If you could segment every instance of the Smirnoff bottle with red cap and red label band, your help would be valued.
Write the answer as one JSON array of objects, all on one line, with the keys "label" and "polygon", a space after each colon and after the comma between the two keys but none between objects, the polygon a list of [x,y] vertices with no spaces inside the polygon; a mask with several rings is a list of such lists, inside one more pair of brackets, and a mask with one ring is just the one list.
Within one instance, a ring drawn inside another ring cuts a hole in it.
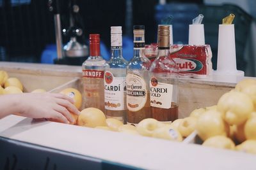
[{"label": "Smirnoff bottle with red cap and red label band", "polygon": [[84,108],[104,112],[104,70],[106,60],[100,56],[100,35],[90,34],[90,56],[83,62]]}]

